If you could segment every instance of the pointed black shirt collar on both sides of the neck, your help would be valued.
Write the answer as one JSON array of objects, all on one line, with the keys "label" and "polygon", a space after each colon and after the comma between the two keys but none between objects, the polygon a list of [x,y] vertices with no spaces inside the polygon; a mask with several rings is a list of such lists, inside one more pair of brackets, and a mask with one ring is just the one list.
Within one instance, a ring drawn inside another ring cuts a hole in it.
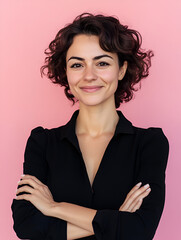
[{"label": "pointed black shirt collar on both sides of the neck", "polygon": [[[115,134],[118,135],[120,133],[125,133],[125,134],[134,134],[134,129],[132,126],[132,123],[126,119],[126,117],[123,115],[123,113],[119,110],[116,110],[118,115],[119,115],[119,121],[116,125],[115,129]],[[68,121],[67,124],[62,126],[61,128],[61,135],[60,138],[68,138],[69,140],[73,140],[76,138],[75,134],[75,124],[76,124],[76,119],[79,114],[79,110],[76,110],[71,119]]]}]

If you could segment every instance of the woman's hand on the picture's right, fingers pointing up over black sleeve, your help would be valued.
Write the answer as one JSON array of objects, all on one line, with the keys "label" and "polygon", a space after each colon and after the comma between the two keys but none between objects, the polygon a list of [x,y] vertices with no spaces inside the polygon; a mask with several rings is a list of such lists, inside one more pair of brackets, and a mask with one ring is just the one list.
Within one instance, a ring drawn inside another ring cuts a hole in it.
[{"label": "woman's hand on the picture's right, fingers pointing up over black sleeve", "polygon": [[149,184],[141,187],[141,182],[136,184],[127,194],[124,203],[119,208],[119,211],[135,212],[141,207],[143,199],[148,196],[151,191]]}]

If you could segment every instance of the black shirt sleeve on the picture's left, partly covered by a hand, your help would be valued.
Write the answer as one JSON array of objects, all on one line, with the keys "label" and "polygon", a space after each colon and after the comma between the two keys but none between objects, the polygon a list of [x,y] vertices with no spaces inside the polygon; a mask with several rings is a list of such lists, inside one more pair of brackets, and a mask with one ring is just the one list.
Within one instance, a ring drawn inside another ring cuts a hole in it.
[{"label": "black shirt sleeve on the picture's left, partly covered by a hand", "polygon": [[[25,148],[24,174],[37,177],[47,183],[46,129],[37,127],[31,131]],[[20,239],[57,240],[67,239],[67,222],[43,215],[31,202],[13,199],[12,214],[14,231]]]}]

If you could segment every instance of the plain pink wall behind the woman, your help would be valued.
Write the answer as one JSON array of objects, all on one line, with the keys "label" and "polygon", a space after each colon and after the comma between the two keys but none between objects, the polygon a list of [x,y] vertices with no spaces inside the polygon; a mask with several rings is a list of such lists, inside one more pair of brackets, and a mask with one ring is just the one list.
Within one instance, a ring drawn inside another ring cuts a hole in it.
[{"label": "plain pink wall behind the woman", "polygon": [[181,239],[181,32],[180,0],[1,0],[0,2],[0,238],[16,240],[10,205],[22,174],[32,128],[62,125],[73,111],[63,88],[40,77],[44,49],[78,14],[117,15],[154,50],[150,76],[120,107],[136,126],[162,127],[170,142],[166,203],[155,240]]}]

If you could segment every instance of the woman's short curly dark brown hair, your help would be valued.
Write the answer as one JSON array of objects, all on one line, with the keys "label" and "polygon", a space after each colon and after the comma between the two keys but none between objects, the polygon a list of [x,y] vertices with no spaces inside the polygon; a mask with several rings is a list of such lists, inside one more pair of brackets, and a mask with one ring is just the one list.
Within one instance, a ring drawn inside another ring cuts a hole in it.
[{"label": "woman's short curly dark brown hair", "polygon": [[138,90],[134,87],[135,84],[139,83],[139,87],[141,87],[141,79],[149,75],[151,57],[154,54],[151,50],[143,51],[141,49],[142,37],[138,31],[122,25],[113,16],[82,13],[72,23],[60,29],[45,50],[47,57],[45,65],[41,67],[41,75],[46,75],[53,83],[64,86],[64,92],[73,104],[78,101],[70,92],[66,76],[67,50],[71,46],[73,38],[78,34],[98,36],[100,47],[104,51],[117,53],[120,67],[124,61],[128,62],[126,74],[122,81],[118,81],[115,92],[116,108],[123,101],[130,101],[133,91]]}]

